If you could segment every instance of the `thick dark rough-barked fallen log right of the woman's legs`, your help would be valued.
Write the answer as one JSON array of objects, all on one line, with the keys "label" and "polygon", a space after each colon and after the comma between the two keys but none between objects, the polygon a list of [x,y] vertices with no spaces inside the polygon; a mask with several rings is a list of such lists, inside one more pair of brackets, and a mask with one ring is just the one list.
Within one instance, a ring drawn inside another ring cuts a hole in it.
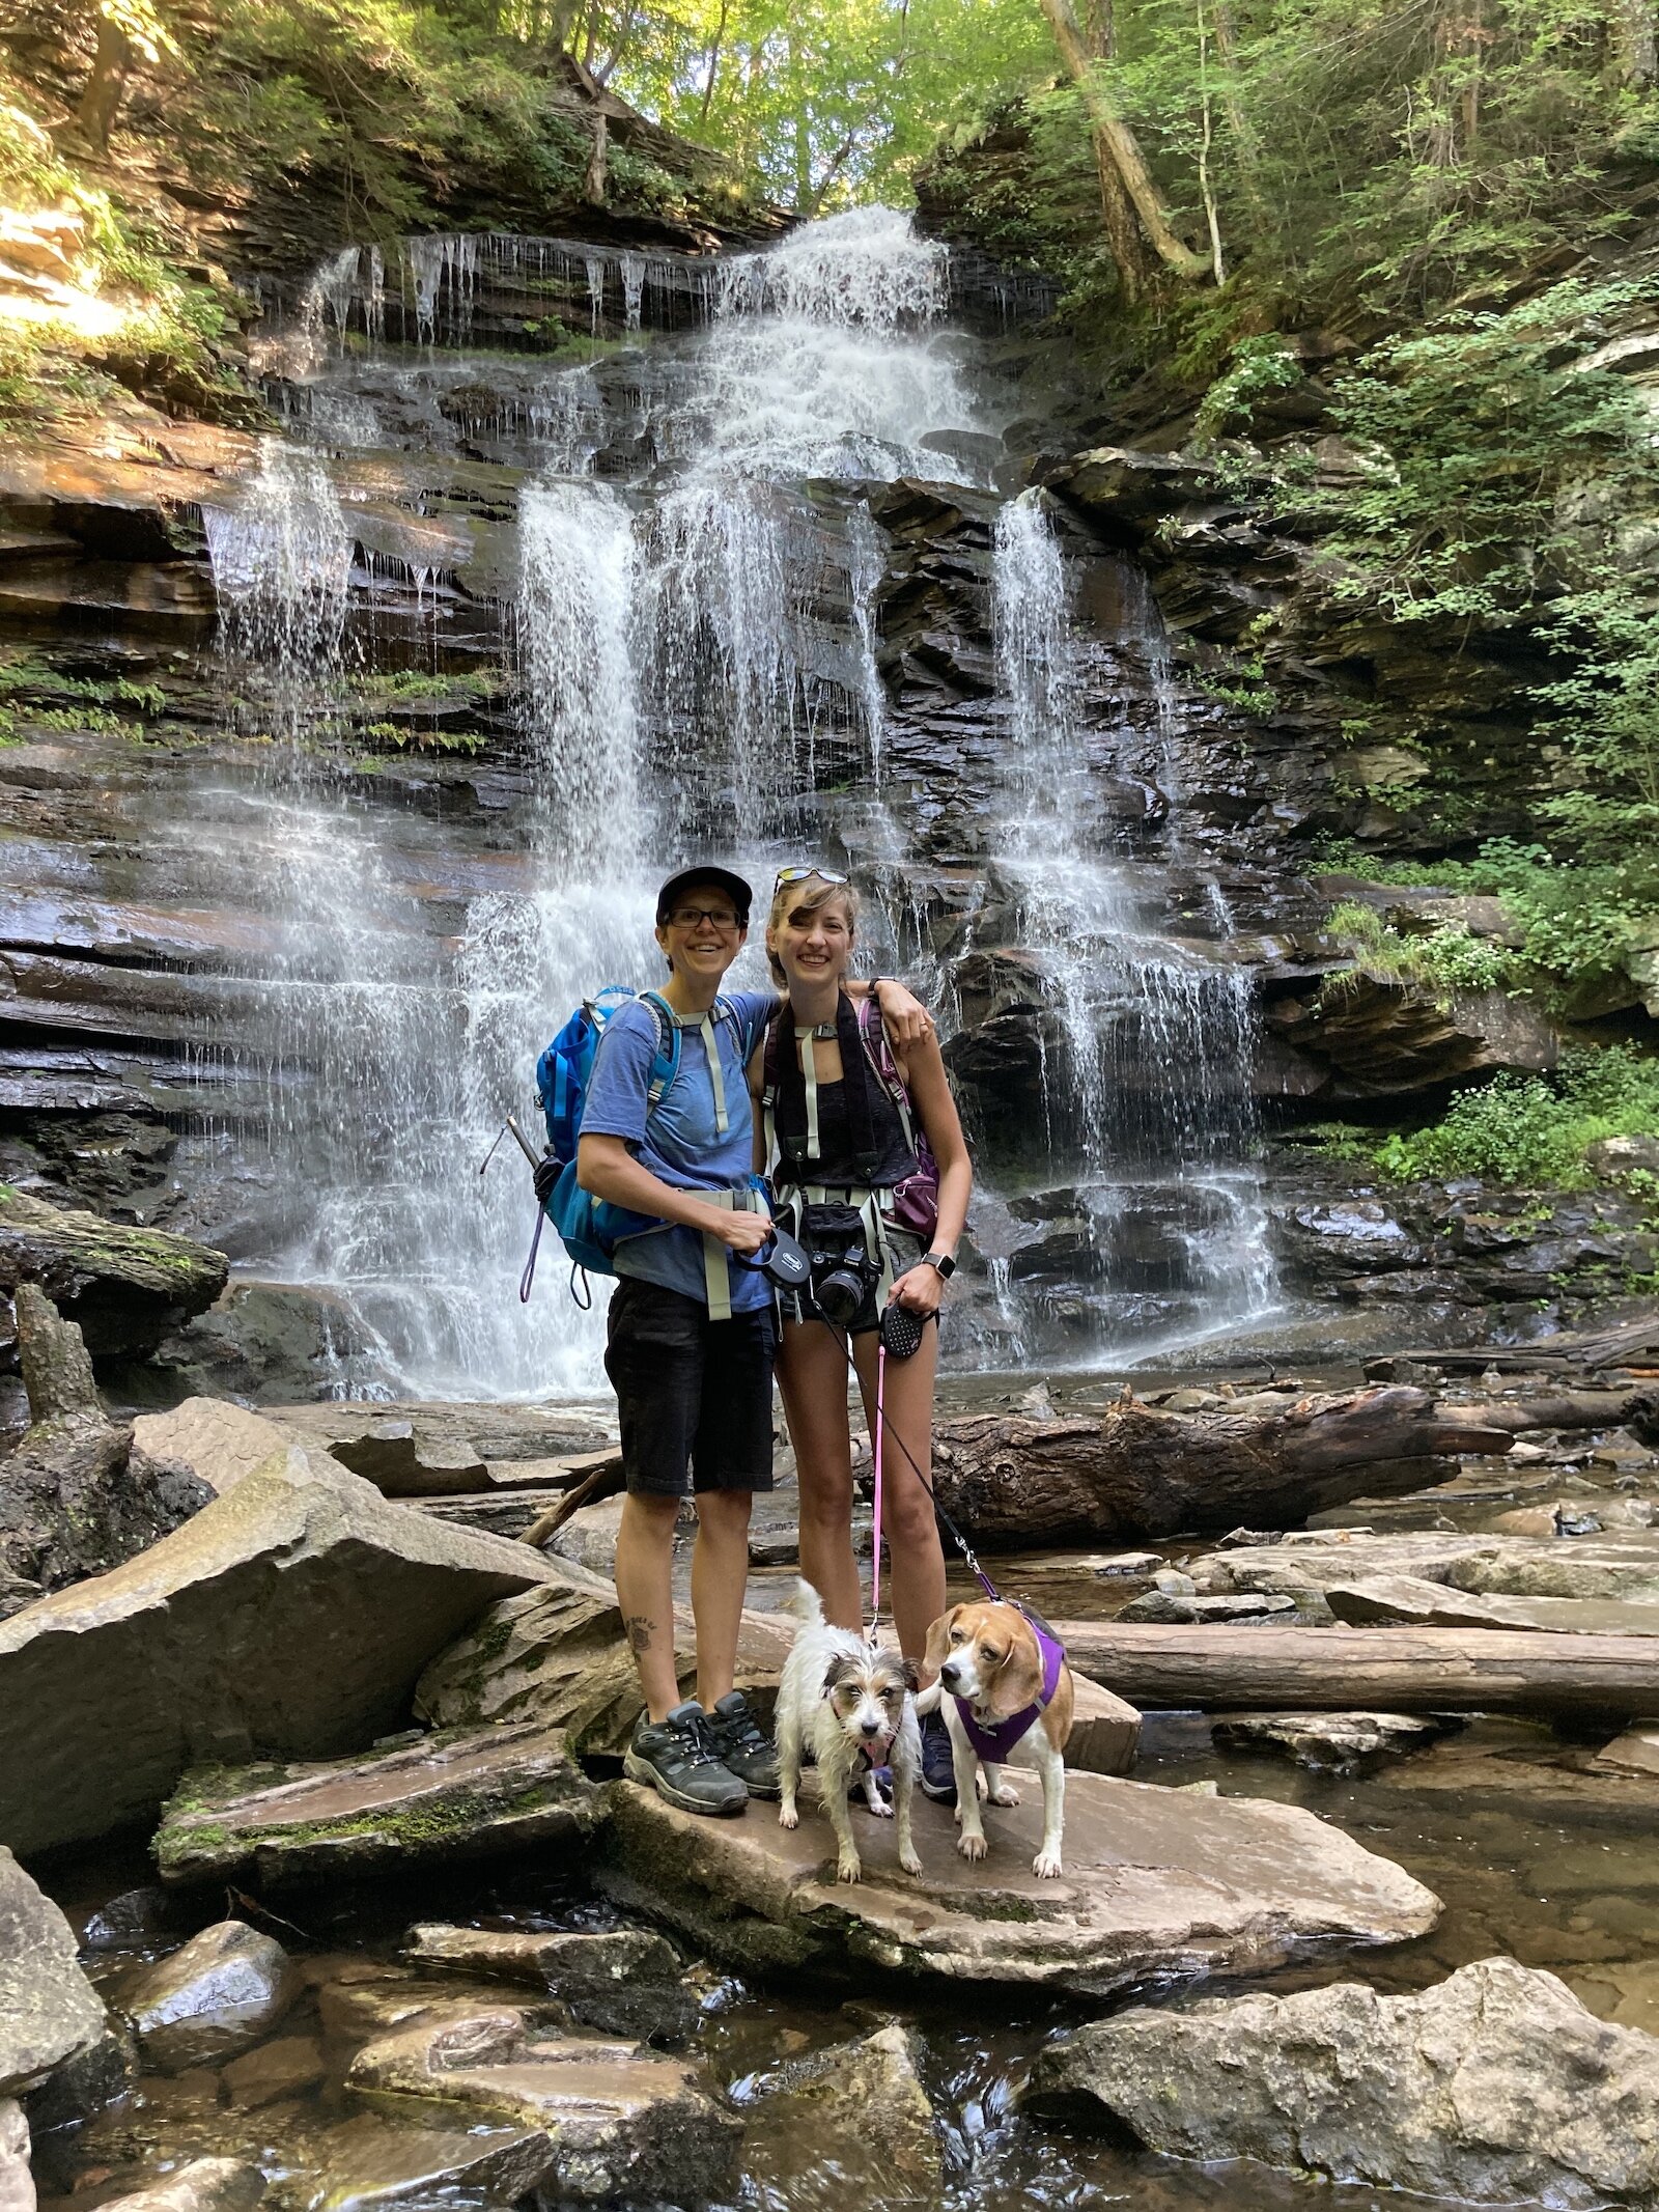
[{"label": "thick dark rough-barked fallen log right of the woman's legs", "polygon": [[984,1544],[1301,1526],[1352,1498],[1449,1480],[1447,1455],[1509,1451],[1506,1431],[1394,1387],[1283,1409],[1166,1413],[1124,1398],[1104,1416],[973,1413],[936,1429],[945,1511]]}]

